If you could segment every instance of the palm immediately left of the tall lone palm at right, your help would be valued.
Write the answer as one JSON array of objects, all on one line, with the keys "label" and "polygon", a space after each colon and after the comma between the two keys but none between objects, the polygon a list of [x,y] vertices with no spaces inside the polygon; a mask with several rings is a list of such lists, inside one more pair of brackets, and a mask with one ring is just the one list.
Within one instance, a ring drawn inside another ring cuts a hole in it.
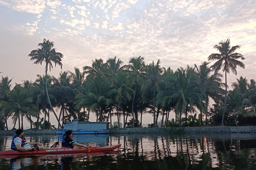
[{"label": "palm immediately left of the tall lone palm at right", "polygon": [[[205,105],[206,108],[203,109],[206,115],[206,123],[207,123],[207,110],[209,106],[209,100],[212,98],[216,103],[218,99],[221,98],[223,94],[222,87],[224,87],[224,83],[221,82],[222,74],[218,72],[213,72],[213,69],[208,66],[208,62],[204,61],[200,66],[195,64],[196,68],[196,76],[198,78],[198,83],[204,88],[204,92],[206,94]],[[201,125],[203,125],[202,114],[201,116]]]}]

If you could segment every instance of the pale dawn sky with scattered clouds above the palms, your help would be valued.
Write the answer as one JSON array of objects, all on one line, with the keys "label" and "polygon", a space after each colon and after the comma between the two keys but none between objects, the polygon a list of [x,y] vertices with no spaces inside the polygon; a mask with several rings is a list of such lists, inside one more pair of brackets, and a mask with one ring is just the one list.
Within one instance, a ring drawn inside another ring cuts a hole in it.
[{"label": "pale dawn sky with scattered clouds above the palms", "polygon": [[64,55],[62,70],[73,71],[115,56],[124,64],[130,57],[160,59],[173,70],[200,65],[230,38],[231,46],[241,46],[236,52],[245,69],[229,74],[228,84],[241,75],[256,79],[255,7],[255,0],[0,0],[0,76],[14,87],[44,74],[45,65],[28,57],[43,39]]}]

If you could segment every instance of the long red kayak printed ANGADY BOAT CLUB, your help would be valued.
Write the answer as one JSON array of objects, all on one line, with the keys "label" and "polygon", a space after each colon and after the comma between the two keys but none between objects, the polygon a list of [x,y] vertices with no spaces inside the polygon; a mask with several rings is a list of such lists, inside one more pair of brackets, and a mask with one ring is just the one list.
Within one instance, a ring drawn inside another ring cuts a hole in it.
[{"label": "long red kayak printed ANGADY BOAT CLUB", "polygon": [[118,145],[113,145],[110,147],[91,147],[91,150],[89,151],[87,148],[86,149],[70,149],[70,148],[65,148],[65,147],[55,147],[53,149],[49,150],[38,150],[38,151],[16,151],[16,150],[5,150],[0,152],[0,155],[23,155],[23,156],[29,156],[29,155],[48,155],[48,154],[73,154],[73,153],[88,153],[88,152],[106,152],[110,150],[117,149],[121,146],[121,144]]}]

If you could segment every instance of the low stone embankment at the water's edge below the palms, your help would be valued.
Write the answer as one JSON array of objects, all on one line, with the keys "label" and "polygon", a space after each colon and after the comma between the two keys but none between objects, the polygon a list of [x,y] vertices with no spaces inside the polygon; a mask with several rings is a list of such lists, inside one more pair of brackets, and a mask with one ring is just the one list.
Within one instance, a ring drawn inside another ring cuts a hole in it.
[{"label": "low stone embankment at the water's edge below the palms", "polygon": [[[55,135],[56,129],[28,129],[24,130],[28,135]],[[15,130],[0,130],[0,135],[13,135]],[[240,127],[167,127],[167,128],[112,128],[110,134],[133,133],[256,133],[256,126]]]}]

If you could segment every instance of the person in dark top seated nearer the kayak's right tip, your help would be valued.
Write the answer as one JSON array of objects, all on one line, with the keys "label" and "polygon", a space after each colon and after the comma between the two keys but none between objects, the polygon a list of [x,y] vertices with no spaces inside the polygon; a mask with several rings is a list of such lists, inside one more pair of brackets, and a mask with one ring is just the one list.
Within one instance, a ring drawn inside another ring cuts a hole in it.
[{"label": "person in dark top seated nearer the kayak's right tip", "polygon": [[72,130],[68,130],[65,133],[62,134],[62,141],[61,141],[61,146],[66,147],[66,148],[71,148],[71,149],[84,149],[88,148],[84,144],[80,143],[75,143],[72,139]]}]

